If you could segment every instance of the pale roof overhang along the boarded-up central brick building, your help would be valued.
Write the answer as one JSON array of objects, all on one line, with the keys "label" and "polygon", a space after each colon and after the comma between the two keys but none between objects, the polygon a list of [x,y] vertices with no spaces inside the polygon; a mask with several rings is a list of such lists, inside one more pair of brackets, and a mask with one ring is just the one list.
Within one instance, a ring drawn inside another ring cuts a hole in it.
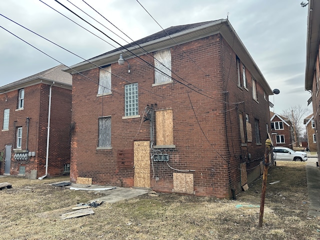
[{"label": "pale roof overhang along the boarded-up central brick building", "polygon": [[[189,42],[192,40],[200,39],[218,33],[220,33],[222,37],[227,41],[227,43],[230,46],[232,46],[235,54],[237,54],[237,56],[241,59],[245,67],[251,72],[252,77],[260,83],[264,91],[268,95],[272,95],[272,89],[266,82],[261,71],[253,61],[247,49],[244,47],[243,43],[241,42],[240,38],[236,34],[228,19],[213,21],[188,30],[177,32],[170,36],[165,36],[159,39],[142,43],[140,44],[140,46],[143,47],[143,50],[137,48],[136,46],[132,46],[128,47],[127,49],[114,51],[110,54],[92,58],[90,61],[83,61],[74,64],[70,67],[63,68],[62,70],[74,74],[77,72],[82,72],[85,70],[95,68],[97,66],[115,63],[117,62],[120,53],[122,53],[124,59],[128,59],[135,57],[135,55],[139,56],[145,54],[145,51],[153,52],[160,49],[172,47],[176,44],[182,44],[185,42]],[[132,54],[131,52],[134,54]]]}]

